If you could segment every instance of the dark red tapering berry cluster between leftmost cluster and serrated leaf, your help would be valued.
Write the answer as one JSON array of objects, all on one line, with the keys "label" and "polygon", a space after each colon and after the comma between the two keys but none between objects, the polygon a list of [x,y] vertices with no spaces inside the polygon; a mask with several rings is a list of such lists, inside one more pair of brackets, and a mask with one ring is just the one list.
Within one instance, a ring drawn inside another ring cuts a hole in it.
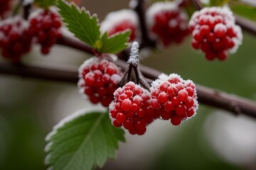
[{"label": "dark red tapering berry cluster between leftmost cluster and serrated leaf", "polygon": [[47,55],[58,38],[61,37],[60,27],[62,22],[55,11],[36,11],[29,17],[30,31],[41,45],[41,52]]}]

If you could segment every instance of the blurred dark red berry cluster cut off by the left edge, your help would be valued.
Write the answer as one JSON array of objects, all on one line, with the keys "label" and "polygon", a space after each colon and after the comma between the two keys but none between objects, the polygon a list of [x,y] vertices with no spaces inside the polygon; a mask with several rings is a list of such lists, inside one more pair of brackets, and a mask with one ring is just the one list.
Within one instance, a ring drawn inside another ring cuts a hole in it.
[{"label": "blurred dark red berry cluster cut off by the left edge", "polygon": [[32,36],[28,31],[28,23],[20,17],[8,18],[0,23],[1,55],[13,62],[31,50]]}]

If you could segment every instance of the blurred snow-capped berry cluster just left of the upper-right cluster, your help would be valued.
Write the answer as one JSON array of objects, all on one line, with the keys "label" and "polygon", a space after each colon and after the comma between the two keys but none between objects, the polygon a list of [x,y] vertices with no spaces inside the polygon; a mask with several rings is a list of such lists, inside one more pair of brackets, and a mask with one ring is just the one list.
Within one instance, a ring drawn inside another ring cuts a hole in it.
[{"label": "blurred snow-capped berry cluster just left of the upper-right cluster", "polygon": [[156,2],[146,12],[151,35],[163,45],[180,43],[189,34],[186,13],[176,2]]}]

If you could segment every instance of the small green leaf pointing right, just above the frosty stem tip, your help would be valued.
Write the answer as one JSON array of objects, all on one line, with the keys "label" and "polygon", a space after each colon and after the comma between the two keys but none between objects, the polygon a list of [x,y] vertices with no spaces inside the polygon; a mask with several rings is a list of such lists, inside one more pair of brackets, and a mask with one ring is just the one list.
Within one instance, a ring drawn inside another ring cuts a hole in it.
[{"label": "small green leaf pointing right, just above the frosty stem tip", "polygon": [[98,45],[97,50],[100,53],[117,53],[128,47],[129,35],[131,31],[123,31],[115,33],[110,37],[104,33],[101,38],[101,43]]}]

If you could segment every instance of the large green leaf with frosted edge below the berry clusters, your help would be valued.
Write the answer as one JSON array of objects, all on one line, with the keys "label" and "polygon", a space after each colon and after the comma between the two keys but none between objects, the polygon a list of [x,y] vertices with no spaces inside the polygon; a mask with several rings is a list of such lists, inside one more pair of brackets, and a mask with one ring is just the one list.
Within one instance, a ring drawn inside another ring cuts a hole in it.
[{"label": "large green leaf with frosted edge below the berry clusters", "polygon": [[[75,118],[74,118],[75,117]],[[107,113],[79,111],[65,118],[46,137],[46,164],[53,170],[102,168],[114,159],[124,131],[114,128]]]}]

